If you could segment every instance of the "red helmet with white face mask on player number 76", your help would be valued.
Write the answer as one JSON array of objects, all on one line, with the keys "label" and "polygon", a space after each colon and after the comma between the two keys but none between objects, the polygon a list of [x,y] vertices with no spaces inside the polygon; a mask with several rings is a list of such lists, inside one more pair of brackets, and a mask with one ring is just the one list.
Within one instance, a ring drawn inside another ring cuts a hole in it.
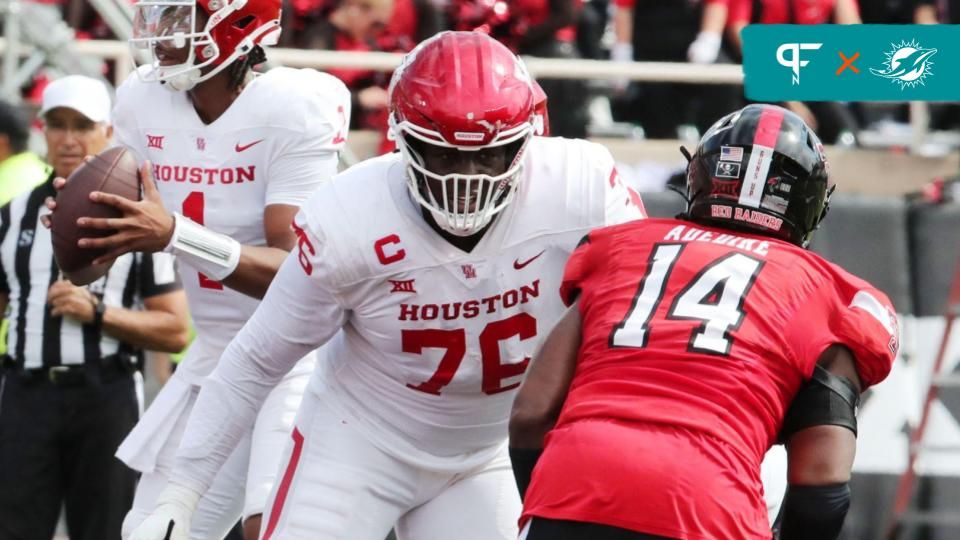
[{"label": "red helmet with white face mask on player number 76", "polygon": [[[543,103],[523,62],[490,36],[442,32],[422,42],[390,81],[390,129],[414,200],[451,234],[482,230],[513,200]],[[506,147],[508,166],[495,176],[438,174],[425,165],[423,145],[462,152]],[[442,197],[428,181],[442,184]],[[465,202],[452,204],[458,196]]]}]

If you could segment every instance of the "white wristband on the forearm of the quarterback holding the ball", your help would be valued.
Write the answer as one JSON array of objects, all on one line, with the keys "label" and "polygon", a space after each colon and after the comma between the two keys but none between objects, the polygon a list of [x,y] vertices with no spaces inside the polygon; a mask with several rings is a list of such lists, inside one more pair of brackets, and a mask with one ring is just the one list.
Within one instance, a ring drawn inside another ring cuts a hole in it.
[{"label": "white wristband on the forearm of the quarterback holding the ball", "polygon": [[173,236],[164,251],[173,253],[184,264],[196,268],[215,281],[227,278],[240,262],[240,242],[225,234],[173,214]]}]

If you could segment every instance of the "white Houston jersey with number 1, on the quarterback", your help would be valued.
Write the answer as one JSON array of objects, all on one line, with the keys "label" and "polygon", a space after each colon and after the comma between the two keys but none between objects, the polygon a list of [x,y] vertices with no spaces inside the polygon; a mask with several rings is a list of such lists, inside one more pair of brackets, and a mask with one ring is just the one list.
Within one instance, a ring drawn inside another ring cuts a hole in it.
[{"label": "white Houston jersey with number 1, on the quarterback", "polygon": [[[264,208],[299,206],[337,172],[347,136],[350,94],[339,79],[277,68],[256,77],[216,121],[205,124],[186,92],[130,77],[113,112],[118,144],[152,164],[170,212],[241,244],[266,245]],[[180,264],[197,354],[184,369],[202,377],[253,314],[259,300]]]}]

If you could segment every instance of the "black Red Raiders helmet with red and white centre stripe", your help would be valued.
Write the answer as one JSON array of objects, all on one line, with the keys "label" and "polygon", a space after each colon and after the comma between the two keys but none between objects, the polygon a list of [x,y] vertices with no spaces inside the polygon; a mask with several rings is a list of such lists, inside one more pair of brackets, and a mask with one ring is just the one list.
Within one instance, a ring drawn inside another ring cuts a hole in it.
[{"label": "black Red Raiders helmet with red and white centre stripe", "polygon": [[717,121],[687,165],[686,219],[807,247],[827,214],[827,159],[796,114],[748,105]]}]

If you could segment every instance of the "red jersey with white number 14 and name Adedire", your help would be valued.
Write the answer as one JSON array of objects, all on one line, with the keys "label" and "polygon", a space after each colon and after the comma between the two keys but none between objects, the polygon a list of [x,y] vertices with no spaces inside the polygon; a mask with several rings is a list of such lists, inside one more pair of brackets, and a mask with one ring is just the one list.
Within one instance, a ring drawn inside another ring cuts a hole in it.
[{"label": "red jersey with white number 14 and name Adedire", "polygon": [[792,244],[672,219],[591,232],[567,263],[583,342],[524,516],[671,538],[769,538],[760,462],[820,354],[864,387],[898,347],[887,297]]}]

